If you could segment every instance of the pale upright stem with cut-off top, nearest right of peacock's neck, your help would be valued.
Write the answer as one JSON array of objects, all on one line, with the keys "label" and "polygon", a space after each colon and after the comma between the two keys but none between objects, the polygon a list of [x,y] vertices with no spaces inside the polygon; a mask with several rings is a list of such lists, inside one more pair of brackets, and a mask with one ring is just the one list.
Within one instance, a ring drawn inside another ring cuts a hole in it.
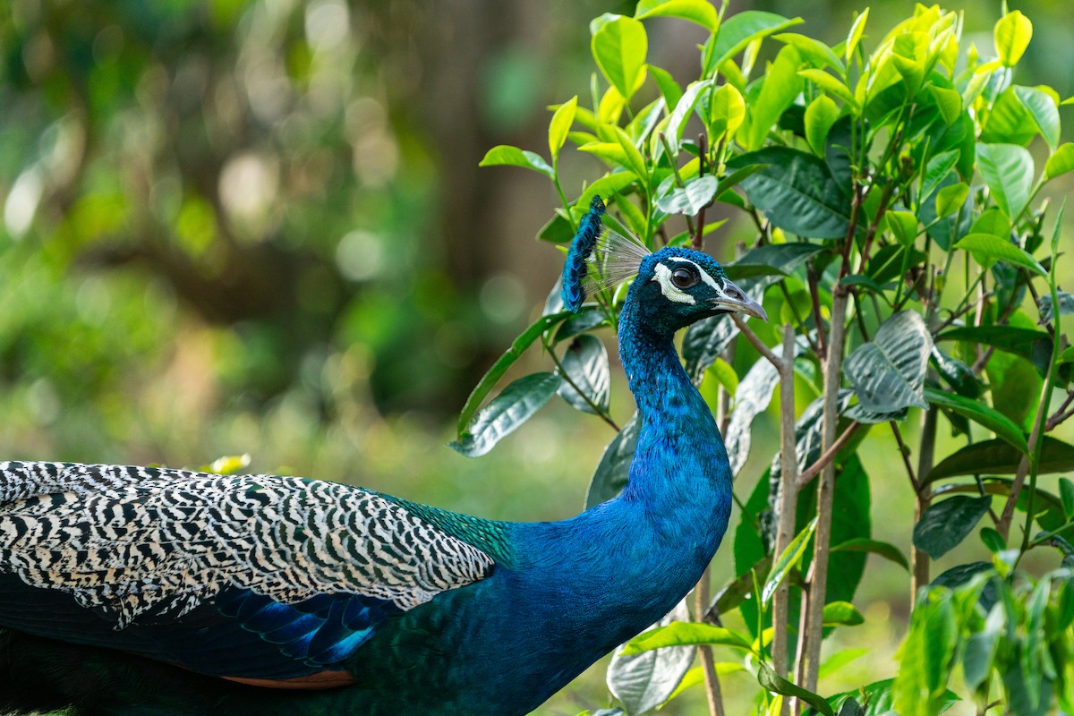
[{"label": "pale upright stem with cut-off top, nearest right of peacock's neck", "polygon": [[[795,536],[795,509],[798,505],[798,454],[795,437],[795,330],[783,324],[783,361],[780,366],[780,501],[774,554],[783,554]],[[772,597],[772,661],[775,673],[787,675],[787,622],[789,585],[780,584]],[[785,700],[781,714],[789,713]]]}]

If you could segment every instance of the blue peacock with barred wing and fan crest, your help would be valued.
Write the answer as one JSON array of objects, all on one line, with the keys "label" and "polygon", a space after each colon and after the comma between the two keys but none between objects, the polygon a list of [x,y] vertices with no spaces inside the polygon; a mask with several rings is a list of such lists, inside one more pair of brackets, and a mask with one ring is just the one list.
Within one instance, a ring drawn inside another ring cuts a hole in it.
[{"label": "blue peacock with barred wing and fan crest", "polygon": [[605,218],[595,199],[563,301],[634,277],[619,497],[509,523],[299,478],[0,463],[0,713],[526,714],[669,612],[731,505],[673,337],[766,316],[707,254]]}]

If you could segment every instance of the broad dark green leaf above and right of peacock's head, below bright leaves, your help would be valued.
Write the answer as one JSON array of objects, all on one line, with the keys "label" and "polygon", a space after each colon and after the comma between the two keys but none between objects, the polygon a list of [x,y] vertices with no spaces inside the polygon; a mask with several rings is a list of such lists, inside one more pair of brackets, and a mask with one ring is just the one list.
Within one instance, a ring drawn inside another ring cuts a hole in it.
[{"label": "broad dark green leaf above and right of peacock's head, below bright leaves", "polygon": [[727,162],[729,167],[748,164],[767,165],[741,187],[773,225],[803,237],[846,236],[850,198],[822,160],[788,147],[765,147]]}]

